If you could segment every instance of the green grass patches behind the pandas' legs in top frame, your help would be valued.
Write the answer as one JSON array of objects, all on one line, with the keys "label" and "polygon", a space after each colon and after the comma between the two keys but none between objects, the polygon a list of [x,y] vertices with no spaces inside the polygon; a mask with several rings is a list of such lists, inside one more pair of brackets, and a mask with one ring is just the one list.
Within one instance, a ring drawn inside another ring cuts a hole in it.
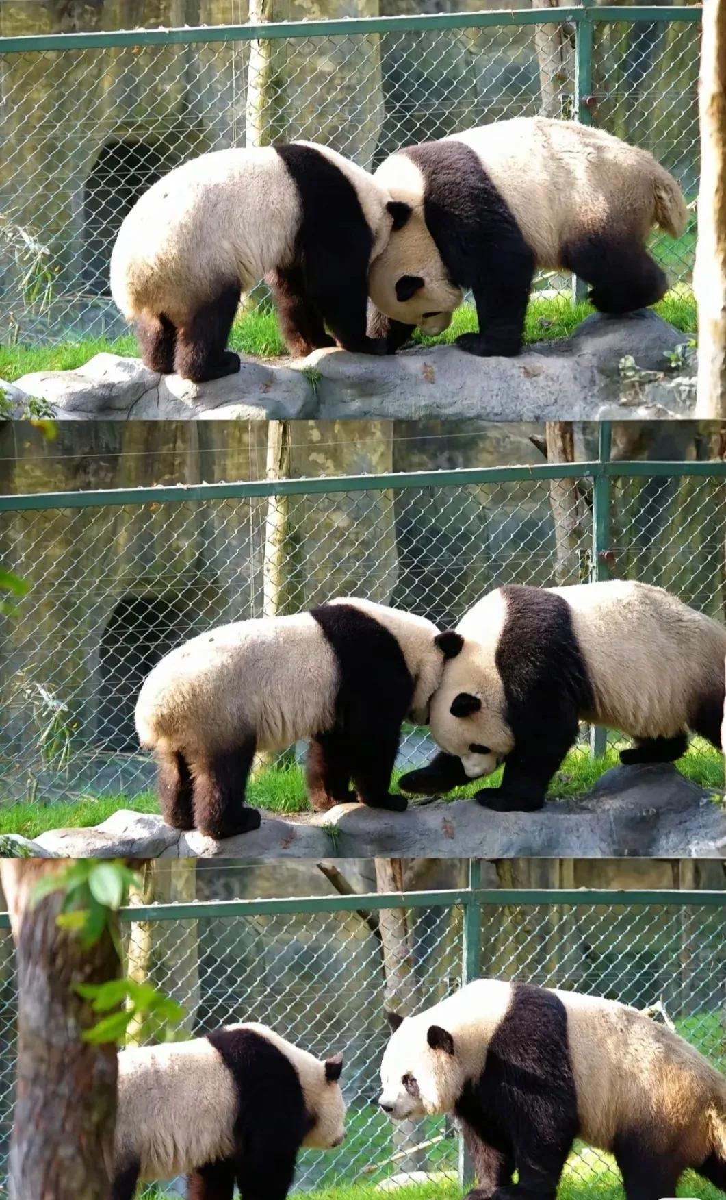
[{"label": "green grass patches behind the pandas' legs in top frame", "polygon": [[[552,342],[567,337],[580,322],[593,312],[591,305],[573,304],[568,296],[533,299],[527,308],[525,342]],[[684,334],[696,330],[696,305],[690,292],[670,292],[655,305],[655,311]],[[476,329],[476,313],[471,305],[462,305],[454,313],[449,329],[438,338],[426,338],[417,334],[424,346],[452,342],[459,334]],[[250,310],[240,317],[230,337],[230,346],[241,354],[274,359],[286,354],[280,337],[277,317],[270,308]],[[138,358],[139,346],[133,334],[105,340],[85,337],[78,342],[58,346],[0,346],[0,379],[12,383],[31,371],[69,371],[80,367],[95,354],[108,350],[111,354]]]}]

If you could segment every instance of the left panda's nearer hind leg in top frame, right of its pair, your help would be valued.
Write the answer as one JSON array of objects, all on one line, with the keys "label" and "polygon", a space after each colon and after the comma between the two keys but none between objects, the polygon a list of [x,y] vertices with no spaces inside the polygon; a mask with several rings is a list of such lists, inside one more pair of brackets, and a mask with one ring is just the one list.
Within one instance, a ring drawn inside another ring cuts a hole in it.
[{"label": "left panda's nearer hind leg in top frame, right of its pair", "polygon": [[183,379],[206,383],[235,374],[240,355],[228,350],[226,342],[240,307],[242,288],[229,283],[214,300],[200,305],[190,319],[177,330],[174,365]]}]

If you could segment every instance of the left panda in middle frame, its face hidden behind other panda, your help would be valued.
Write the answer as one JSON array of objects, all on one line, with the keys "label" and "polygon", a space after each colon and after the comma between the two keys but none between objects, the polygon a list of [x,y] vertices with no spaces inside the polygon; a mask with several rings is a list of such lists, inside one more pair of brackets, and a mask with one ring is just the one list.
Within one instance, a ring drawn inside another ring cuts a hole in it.
[{"label": "left panda in middle frame, its face hidden behind other panda", "polygon": [[364,804],[403,811],[391,773],[401,721],[428,724],[443,667],[436,632],[424,617],[339,599],[177,646],[146,677],[135,708],[168,823],[217,839],[259,828],[260,814],[243,806],[253,757],[303,738],[314,808],[355,799],[352,778]]}]

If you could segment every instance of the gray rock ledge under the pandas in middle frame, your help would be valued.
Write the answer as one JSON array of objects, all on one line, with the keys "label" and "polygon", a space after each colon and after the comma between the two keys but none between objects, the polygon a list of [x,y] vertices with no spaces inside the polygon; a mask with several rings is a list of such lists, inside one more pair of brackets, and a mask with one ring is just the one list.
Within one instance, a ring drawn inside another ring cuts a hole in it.
[{"label": "gray rock ledge under the pandas in middle frame", "polygon": [[540,812],[491,812],[476,800],[413,803],[406,812],[340,804],[314,815],[262,812],[255,833],[216,842],[161,816],[120,811],[36,844],[72,858],[726,858],[726,806],[655,764],[613,767],[587,796]]}]

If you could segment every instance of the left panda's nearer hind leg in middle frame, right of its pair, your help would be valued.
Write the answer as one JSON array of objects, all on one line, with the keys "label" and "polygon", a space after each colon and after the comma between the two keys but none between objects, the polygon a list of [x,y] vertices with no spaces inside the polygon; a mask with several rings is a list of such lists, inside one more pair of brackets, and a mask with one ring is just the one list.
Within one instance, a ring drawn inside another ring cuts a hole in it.
[{"label": "left panda's nearer hind leg in middle frame, right of its pair", "polygon": [[192,763],[194,822],[200,833],[222,841],[260,828],[260,814],[244,805],[244,790],[255,755],[255,739],[235,750]]}]

